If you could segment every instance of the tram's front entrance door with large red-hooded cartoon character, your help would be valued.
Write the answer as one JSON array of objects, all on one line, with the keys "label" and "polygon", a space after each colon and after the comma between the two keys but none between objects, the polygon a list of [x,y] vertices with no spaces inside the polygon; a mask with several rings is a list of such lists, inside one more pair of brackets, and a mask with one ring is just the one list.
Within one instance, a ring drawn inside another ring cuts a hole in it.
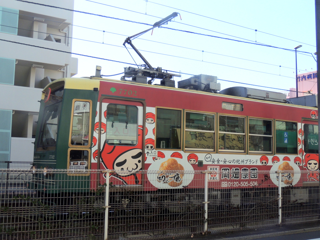
[{"label": "tram's front entrance door with large red-hooded cartoon character", "polygon": [[143,103],[104,99],[101,112],[100,159],[103,167],[115,170],[110,181],[114,185],[142,184]]}]

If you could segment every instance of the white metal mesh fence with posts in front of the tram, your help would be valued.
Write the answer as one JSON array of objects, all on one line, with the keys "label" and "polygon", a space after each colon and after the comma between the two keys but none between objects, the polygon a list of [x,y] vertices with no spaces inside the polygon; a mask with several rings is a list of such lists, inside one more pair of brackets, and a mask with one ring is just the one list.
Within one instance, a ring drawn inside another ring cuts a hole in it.
[{"label": "white metal mesh fence with posts in front of the tram", "polygon": [[141,186],[123,173],[2,169],[28,178],[1,190],[0,239],[154,239],[319,219],[309,172],[293,185],[281,172],[140,171]]}]

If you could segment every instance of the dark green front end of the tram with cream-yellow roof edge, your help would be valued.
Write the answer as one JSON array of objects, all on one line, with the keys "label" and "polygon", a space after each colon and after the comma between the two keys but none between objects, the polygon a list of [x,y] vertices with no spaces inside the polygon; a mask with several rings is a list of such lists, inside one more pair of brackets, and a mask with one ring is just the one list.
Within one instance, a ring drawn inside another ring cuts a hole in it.
[{"label": "dark green front end of the tram with cream-yellow roof edge", "polygon": [[90,174],[85,170],[91,168],[97,84],[67,78],[44,88],[28,188],[45,194],[90,191]]}]

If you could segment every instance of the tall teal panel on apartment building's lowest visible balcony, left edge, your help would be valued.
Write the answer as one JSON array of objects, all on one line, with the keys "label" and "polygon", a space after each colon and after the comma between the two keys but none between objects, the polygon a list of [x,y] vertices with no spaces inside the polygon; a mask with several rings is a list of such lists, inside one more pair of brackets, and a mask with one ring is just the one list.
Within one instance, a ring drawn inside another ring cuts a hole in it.
[{"label": "tall teal panel on apartment building's lowest visible balcony, left edge", "polygon": [[0,162],[10,161],[12,110],[0,109]]}]

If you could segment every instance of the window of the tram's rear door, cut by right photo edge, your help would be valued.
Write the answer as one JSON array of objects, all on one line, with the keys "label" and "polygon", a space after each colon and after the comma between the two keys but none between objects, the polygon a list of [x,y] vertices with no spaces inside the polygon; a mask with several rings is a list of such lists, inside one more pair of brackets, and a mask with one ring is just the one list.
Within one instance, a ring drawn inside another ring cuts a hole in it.
[{"label": "window of the tram's rear door, cut by right photo edge", "polygon": [[304,124],[304,152],[305,153],[318,153],[318,125]]}]

